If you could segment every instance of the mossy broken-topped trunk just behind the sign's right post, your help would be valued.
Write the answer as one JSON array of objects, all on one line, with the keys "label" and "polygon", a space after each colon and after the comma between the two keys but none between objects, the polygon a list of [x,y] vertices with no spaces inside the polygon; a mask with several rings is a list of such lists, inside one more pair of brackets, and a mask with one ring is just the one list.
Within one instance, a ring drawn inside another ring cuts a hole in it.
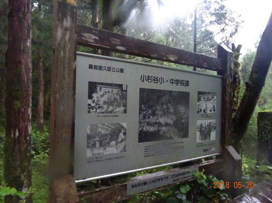
[{"label": "mossy broken-topped trunk just behind the sign's right post", "polygon": [[233,85],[232,85],[232,97],[233,97],[233,109],[232,113],[235,113],[238,108],[239,94],[240,94],[240,74],[239,69],[241,68],[241,63],[239,61],[240,50],[242,45],[235,47],[234,43],[231,44],[231,50],[233,52]]}]

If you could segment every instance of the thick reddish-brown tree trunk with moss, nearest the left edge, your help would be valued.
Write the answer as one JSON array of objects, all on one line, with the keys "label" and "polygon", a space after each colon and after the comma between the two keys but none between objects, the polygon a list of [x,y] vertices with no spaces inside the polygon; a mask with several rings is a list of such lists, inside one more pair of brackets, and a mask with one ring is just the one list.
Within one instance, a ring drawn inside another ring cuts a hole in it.
[{"label": "thick reddish-brown tree trunk with moss, nearest the left edge", "polygon": [[[31,186],[31,1],[9,0],[4,177],[9,187]],[[18,202],[8,195],[5,202]],[[31,196],[26,198],[31,202]]]}]

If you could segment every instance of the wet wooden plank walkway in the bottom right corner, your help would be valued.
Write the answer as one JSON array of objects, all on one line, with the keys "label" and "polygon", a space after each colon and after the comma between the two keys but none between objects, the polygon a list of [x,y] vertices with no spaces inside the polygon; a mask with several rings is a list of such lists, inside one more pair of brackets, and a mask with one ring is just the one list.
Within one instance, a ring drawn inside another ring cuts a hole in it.
[{"label": "wet wooden plank walkway in the bottom right corner", "polygon": [[231,203],[271,203],[272,181],[258,183],[245,194],[230,201]]}]

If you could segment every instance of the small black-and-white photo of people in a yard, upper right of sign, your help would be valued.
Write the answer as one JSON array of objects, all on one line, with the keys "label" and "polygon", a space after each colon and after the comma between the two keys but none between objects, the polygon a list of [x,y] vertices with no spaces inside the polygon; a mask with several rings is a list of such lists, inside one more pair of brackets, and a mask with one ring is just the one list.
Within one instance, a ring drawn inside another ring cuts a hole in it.
[{"label": "small black-and-white photo of people in a yard, upper right of sign", "polygon": [[216,93],[197,92],[197,113],[216,113]]}]

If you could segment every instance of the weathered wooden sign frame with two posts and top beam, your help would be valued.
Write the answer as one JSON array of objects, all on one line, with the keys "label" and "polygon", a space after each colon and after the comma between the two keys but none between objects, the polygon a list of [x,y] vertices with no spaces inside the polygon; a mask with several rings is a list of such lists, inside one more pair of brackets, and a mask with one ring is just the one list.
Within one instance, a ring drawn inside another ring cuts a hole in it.
[{"label": "weathered wooden sign frame with two posts and top beam", "polygon": [[[213,173],[223,165],[223,178],[230,184],[241,179],[241,158],[230,146],[231,84],[233,77],[233,53],[231,50],[218,46],[218,58],[213,58],[106,30],[77,25],[77,6],[73,0],[67,2],[54,0],[53,3],[54,54],[51,84],[49,202],[79,202],[79,197],[86,197],[88,202],[101,202],[101,198],[89,198],[96,196],[94,194],[99,194],[98,191],[78,195],[73,180],[76,45],[217,71],[218,75],[223,77],[221,101],[222,155],[219,158],[223,159],[224,164],[218,164],[221,161],[216,159],[210,164],[206,162],[202,165],[207,167],[206,170]],[[215,165],[216,167],[214,167]],[[230,168],[230,166],[233,167]],[[199,166],[199,168],[201,167]],[[113,191],[118,192],[123,186],[121,184],[116,187],[117,189],[115,188]],[[109,190],[107,189],[107,191]],[[234,196],[239,194],[237,189],[229,192]],[[105,190],[103,193],[105,193]],[[122,199],[125,198],[128,198],[128,196],[122,197]],[[117,199],[108,198],[108,201],[103,202],[110,201],[117,201]]]}]

